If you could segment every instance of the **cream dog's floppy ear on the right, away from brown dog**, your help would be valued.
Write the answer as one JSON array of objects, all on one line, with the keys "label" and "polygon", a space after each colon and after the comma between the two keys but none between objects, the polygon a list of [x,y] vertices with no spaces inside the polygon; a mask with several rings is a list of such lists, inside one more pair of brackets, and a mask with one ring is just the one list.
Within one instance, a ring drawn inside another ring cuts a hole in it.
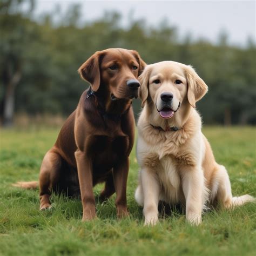
[{"label": "cream dog's floppy ear on the right, away from brown dog", "polygon": [[187,77],[187,99],[192,107],[196,107],[196,102],[204,97],[208,91],[208,86],[197,75],[192,66],[187,66],[185,72]]}]

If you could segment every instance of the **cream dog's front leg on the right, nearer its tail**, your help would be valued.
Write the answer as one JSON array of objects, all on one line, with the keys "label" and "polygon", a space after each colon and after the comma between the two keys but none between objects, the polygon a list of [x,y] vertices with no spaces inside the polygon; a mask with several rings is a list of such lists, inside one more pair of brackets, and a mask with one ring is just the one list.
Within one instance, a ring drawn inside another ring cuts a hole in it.
[{"label": "cream dog's front leg on the right, nearer its tail", "polygon": [[182,187],[186,199],[186,219],[193,225],[202,221],[204,206],[204,173],[200,167],[185,167]]}]

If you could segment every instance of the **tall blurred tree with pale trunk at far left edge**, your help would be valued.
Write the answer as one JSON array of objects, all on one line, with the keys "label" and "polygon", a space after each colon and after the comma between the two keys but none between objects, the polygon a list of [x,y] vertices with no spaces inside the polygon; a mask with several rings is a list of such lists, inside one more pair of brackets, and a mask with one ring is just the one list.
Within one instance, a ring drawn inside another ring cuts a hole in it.
[{"label": "tall blurred tree with pale trunk at far left edge", "polygon": [[12,125],[15,91],[22,78],[24,52],[31,39],[32,22],[26,15],[32,11],[33,1],[29,1],[30,9],[25,14],[19,12],[19,8],[24,2],[22,0],[5,0],[0,4],[0,76],[3,84],[0,112],[4,126]]}]

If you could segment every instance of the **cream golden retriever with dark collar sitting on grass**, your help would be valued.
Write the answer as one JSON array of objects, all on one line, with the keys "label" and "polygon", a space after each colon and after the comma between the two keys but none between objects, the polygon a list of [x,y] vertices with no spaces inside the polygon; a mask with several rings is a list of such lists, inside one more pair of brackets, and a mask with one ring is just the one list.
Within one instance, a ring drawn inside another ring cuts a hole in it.
[{"label": "cream golden retriever with dark collar sitting on grass", "polygon": [[207,85],[193,68],[159,62],[148,65],[139,79],[144,109],[138,120],[141,170],[135,198],[145,224],[158,222],[159,200],[184,205],[186,219],[196,225],[207,204],[230,208],[255,201],[249,195],[232,197],[227,171],[201,132],[195,107]]}]

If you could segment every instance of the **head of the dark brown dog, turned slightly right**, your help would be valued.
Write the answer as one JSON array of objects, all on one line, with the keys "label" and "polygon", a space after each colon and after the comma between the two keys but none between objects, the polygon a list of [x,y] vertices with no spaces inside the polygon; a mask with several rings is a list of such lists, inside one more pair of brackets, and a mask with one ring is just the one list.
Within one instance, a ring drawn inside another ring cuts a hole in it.
[{"label": "head of the dark brown dog, turned slightly right", "polygon": [[112,100],[138,98],[137,80],[146,64],[137,51],[107,49],[97,51],[80,66],[80,76],[93,91],[109,92]]}]

